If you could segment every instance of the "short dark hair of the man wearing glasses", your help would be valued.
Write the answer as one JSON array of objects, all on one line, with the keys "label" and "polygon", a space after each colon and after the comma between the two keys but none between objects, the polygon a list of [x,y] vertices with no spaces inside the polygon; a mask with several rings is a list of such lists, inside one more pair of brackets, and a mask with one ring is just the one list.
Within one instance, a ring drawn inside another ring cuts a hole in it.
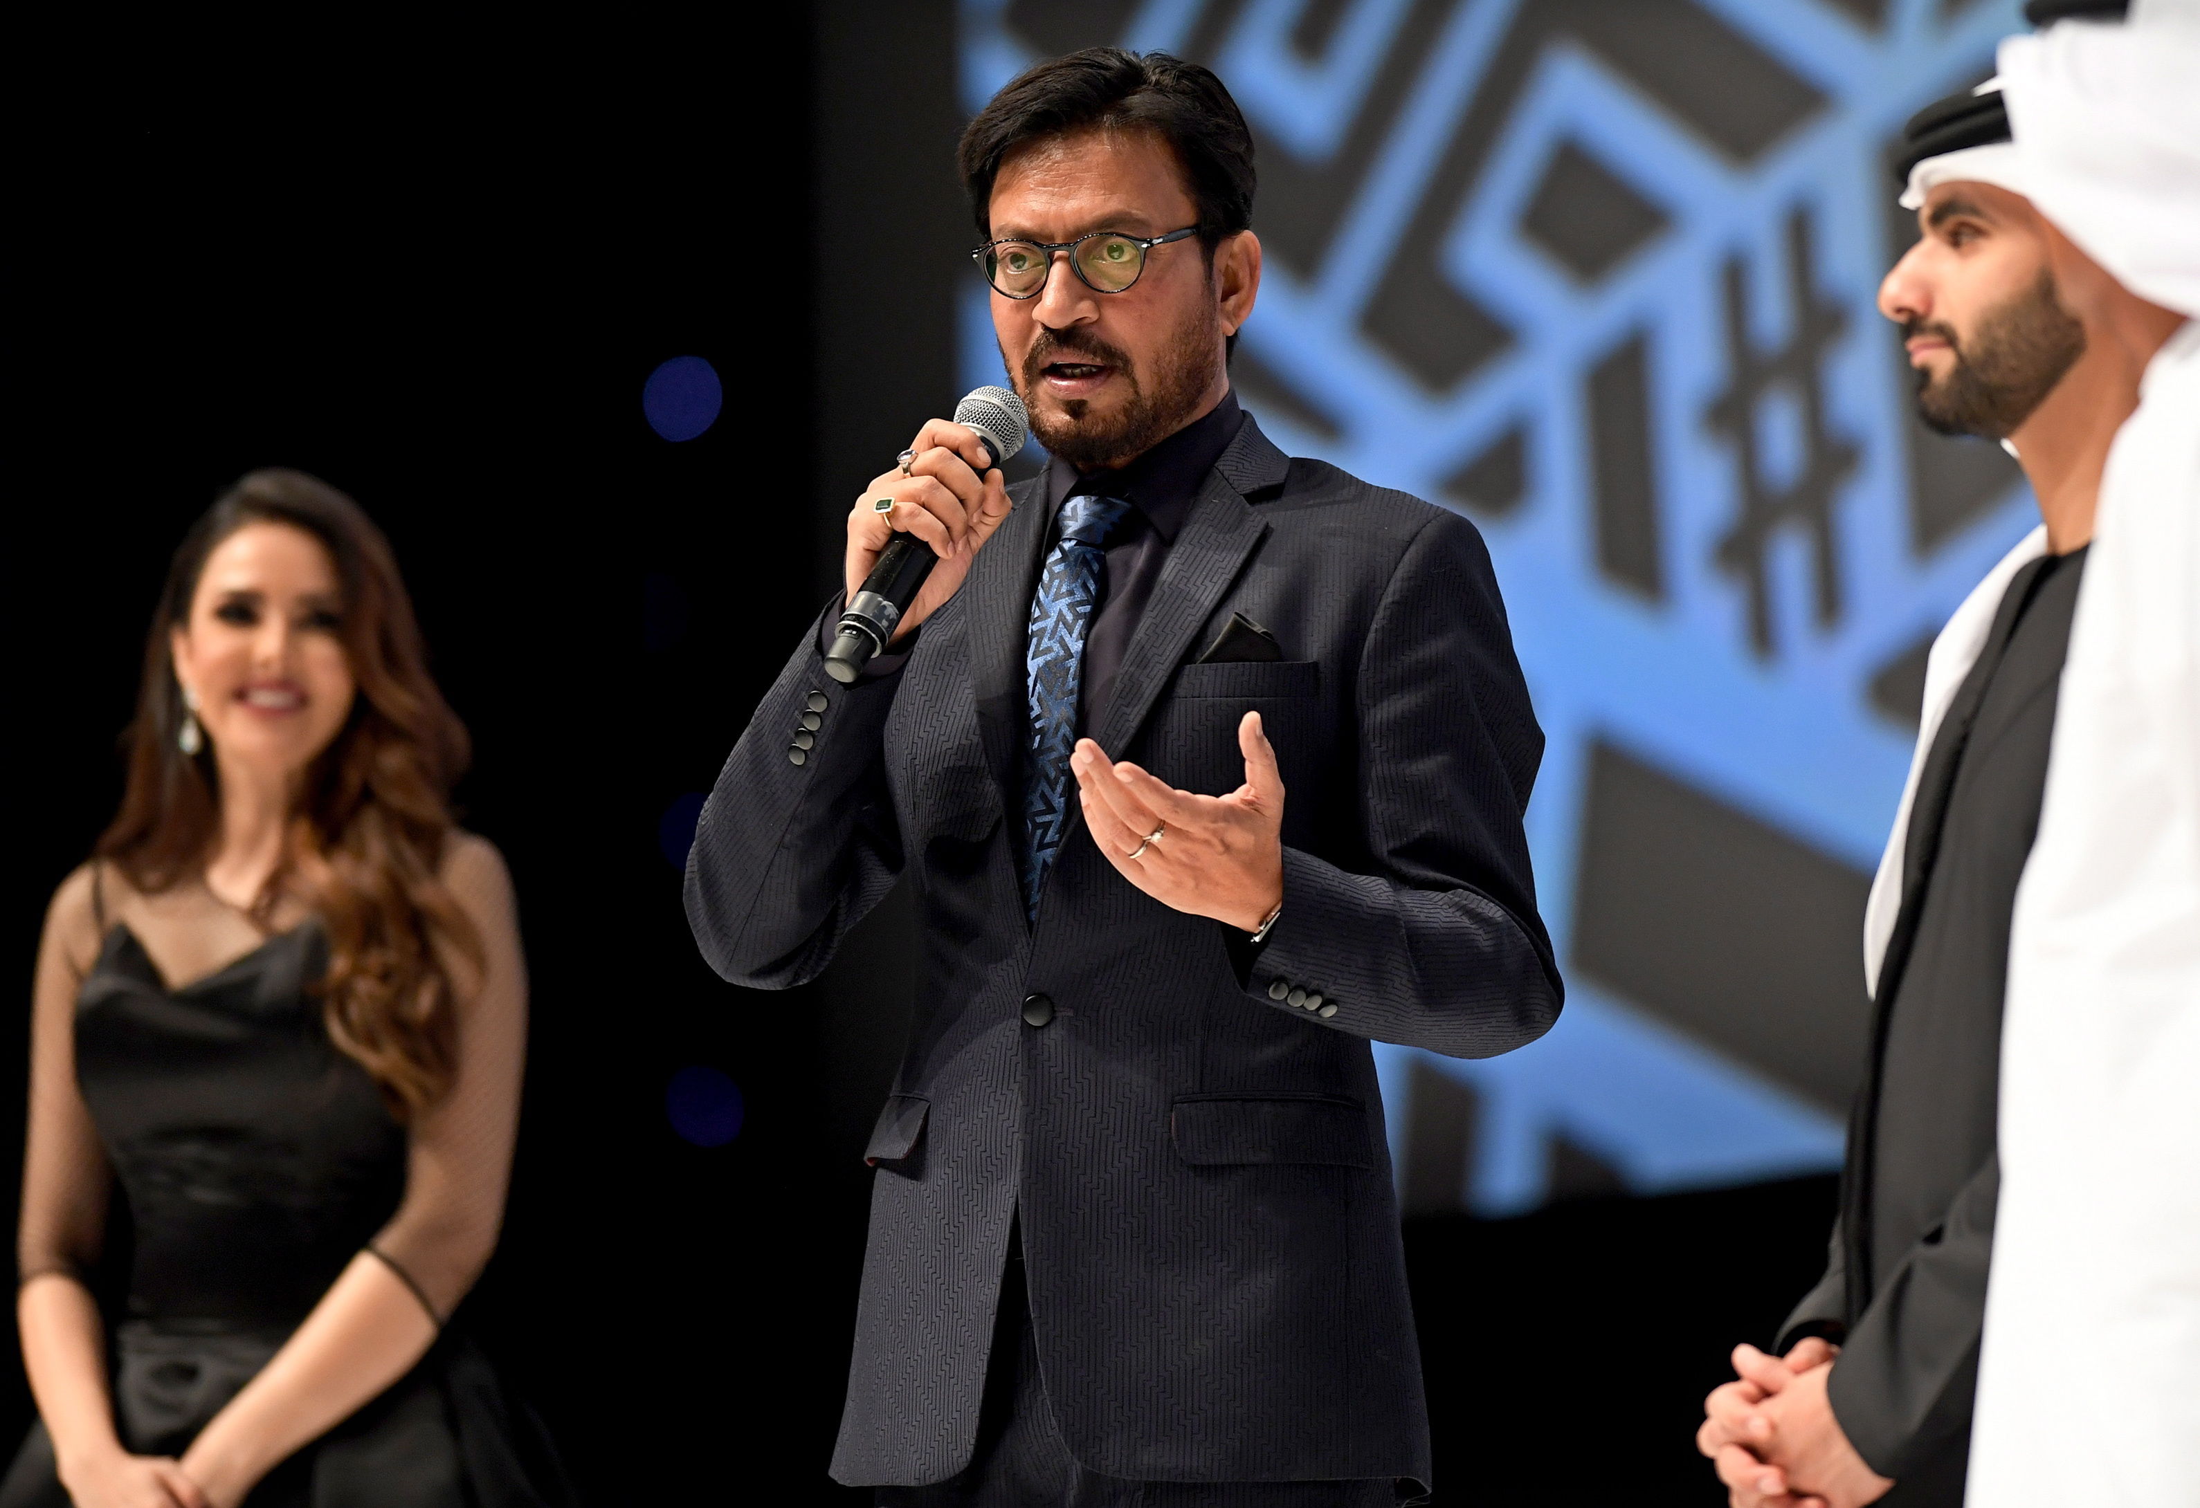
[{"label": "short dark hair of the man wearing glasses", "polygon": [[1252,132],[1214,70],[1168,53],[1089,46],[1025,68],[964,130],[957,156],[977,233],[992,235],[992,180],[1012,152],[1096,127],[1168,143],[1210,257],[1221,237],[1252,224]]}]

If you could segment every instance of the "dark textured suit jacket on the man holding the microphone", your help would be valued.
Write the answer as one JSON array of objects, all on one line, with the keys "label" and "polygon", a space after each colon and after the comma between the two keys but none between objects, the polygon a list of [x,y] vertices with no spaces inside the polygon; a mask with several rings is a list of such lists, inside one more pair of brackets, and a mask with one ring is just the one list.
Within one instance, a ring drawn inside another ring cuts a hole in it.
[{"label": "dark textured suit jacket on the man holding the microphone", "polygon": [[[1285,901],[1252,956],[1135,890],[1082,827],[1025,921],[1023,651],[1049,532],[1032,492],[900,673],[834,686],[803,637],[689,860],[695,939],[752,987],[812,978],[898,875],[915,886],[917,1007],[869,1147],[832,1471],[922,1484],[966,1464],[1021,1211],[1041,1370],[1080,1464],[1426,1482],[1368,1040],[1478,1057],[1560,1009],[1520,831],[1542,732],[1489,556],[1463,519],[1285,459],[1250,420],[1208,475],[1093,734],[1223,794],[1243,780],[1239,717],[1261,710],[1287,785]],[[1232,611],[1285,659],[1188,664]],[[1030,996],[1047,1024],[1025,1022]]]}]

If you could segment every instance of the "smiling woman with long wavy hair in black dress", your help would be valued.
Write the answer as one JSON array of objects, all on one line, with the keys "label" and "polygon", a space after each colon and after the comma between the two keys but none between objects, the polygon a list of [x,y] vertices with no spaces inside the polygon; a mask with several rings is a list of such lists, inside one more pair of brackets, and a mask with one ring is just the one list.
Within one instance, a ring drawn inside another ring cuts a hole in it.
[{"label": "smiling woman with long wavy hair in black dress", "polygon": [[[389,545],[301,473],[176,554],[121,813],[53,899],[0,1508],[570,1501],[444,1321],[497,1242],[526,976]],[[130,1211],[110,1337],[88,1273]]]}]

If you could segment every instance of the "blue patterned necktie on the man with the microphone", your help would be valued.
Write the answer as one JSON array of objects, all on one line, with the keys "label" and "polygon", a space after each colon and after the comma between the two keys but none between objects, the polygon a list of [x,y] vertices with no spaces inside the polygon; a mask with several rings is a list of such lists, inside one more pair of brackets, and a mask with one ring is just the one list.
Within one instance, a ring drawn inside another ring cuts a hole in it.
[{"label": "blue patterned necktie on the man with the microphone", "polygon": [[1069,754],[1078,745],[1078,686],[1085,681],[1085,631],[1100,596],[1100,543],[1131,503],[1071,497],[1063,536],[1038,574],[1023,686],[1032,703],[1032,747],[1023,767],[1023,910],[1038,921],[1038,892],[1069,827]]}]

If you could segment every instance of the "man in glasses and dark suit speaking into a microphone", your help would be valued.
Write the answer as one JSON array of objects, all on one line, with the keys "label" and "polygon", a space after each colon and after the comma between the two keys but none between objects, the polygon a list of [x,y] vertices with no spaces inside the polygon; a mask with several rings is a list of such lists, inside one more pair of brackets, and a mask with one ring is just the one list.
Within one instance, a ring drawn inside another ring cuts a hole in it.
[{"label": "man in glasses and dark suit speaking into a microphone", "polygon": [[1417,1497],[1368,1042],[1492,1055],[1560,1009],[1489,556],[1239,409],[1261,246],[1212,73],[1041,64],[961,165],[1052,466],[1010,490],[931,422],[871,484],[849,589],[891,530],[942,563],[845,688],[823,616],[686,881],[713,967],[759,987],[915,888],[832,1471],[882,1504]]}]

